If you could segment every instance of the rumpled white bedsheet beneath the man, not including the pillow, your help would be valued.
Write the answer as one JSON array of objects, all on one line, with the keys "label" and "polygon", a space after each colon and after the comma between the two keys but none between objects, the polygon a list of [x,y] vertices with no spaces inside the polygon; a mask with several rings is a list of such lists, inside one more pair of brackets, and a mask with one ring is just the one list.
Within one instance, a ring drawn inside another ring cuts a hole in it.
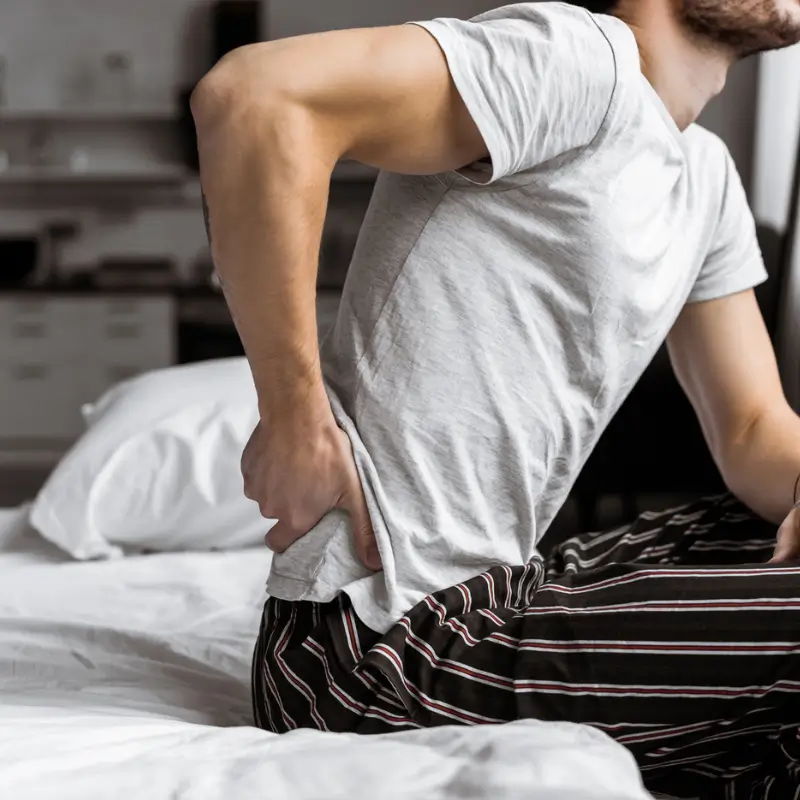
[{"label": "rumpled white bedsheet beneath the man, not including the pillow", "polygon": [[265,550],[75,563],[23,529],[0,514],[0,800],[650,797],[583,726],[259,731]]}]

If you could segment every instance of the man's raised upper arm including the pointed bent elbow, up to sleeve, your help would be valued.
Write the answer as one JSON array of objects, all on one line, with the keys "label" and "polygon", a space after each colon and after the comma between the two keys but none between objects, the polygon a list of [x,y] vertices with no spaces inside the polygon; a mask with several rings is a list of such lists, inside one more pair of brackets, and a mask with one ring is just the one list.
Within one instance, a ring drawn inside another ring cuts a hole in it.
[{"label": "man's raised upper arm including the pointed bent elbow, up to sleeve", "polygon": [[308,34],[229,53],[192,96],[195,119],[255,126],[272,149],[435,174],[487,147],[435,39],[413,25]]}]

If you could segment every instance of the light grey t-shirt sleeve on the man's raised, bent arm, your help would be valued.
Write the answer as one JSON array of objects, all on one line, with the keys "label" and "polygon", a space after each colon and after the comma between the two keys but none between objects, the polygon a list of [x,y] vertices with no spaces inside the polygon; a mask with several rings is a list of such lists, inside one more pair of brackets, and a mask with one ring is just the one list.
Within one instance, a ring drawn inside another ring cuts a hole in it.
[{"label": "light grey t-shirt sleeve on the man's raised, bent arm", "polygon": [[592,16],[558,3],[522,3],[473,20],[414,22],[439,43],[456,89],[491,157],[478,183],[524,172],[583,148],[603,123],[614,53]]}]

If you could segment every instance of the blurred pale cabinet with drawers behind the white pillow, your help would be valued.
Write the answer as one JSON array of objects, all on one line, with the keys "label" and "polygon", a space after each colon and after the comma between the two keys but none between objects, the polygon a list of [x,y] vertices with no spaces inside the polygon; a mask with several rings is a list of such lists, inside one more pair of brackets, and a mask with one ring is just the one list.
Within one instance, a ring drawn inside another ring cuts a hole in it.
[{"label": "blurred pale cabinet with drawers behind the white pillow", "polygon": [[0,296],[0,448],[63,448],[81,405],[173,363],[170,296]]}]

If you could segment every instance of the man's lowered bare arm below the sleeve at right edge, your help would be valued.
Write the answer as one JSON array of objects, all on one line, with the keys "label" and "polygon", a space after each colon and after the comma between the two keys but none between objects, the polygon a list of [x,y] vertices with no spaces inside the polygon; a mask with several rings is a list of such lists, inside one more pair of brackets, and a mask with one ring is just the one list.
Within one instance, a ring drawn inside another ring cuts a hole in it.
[{"label": "man's lowered bare arm below the sleeve at right edge", "polygon": [[728,488],[783,522],[800,473],[800,417],[784,396],[755,294],[687,305],[668,344]]}]

